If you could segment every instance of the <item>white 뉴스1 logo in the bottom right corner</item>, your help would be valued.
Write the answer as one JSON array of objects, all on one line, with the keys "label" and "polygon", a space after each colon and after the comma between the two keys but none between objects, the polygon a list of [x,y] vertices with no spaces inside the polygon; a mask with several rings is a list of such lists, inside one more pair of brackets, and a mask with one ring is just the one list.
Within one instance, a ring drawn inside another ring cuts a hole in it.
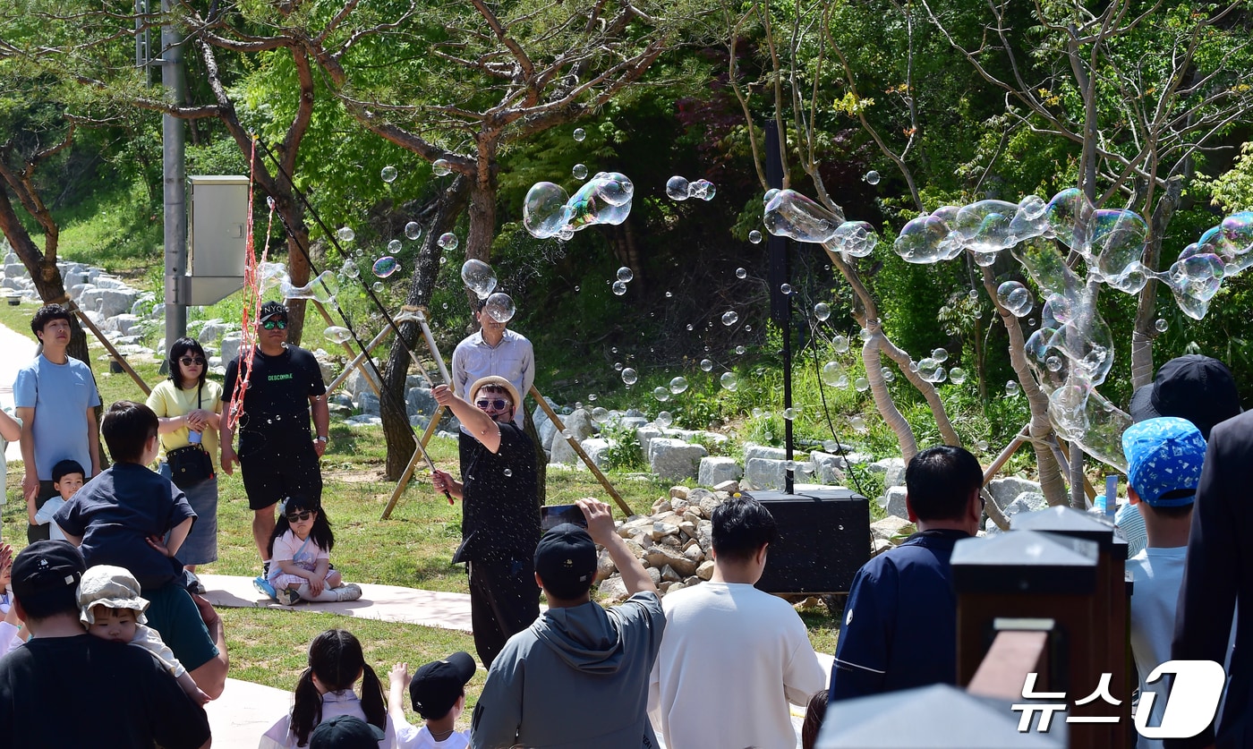
[{"label": "white \ub274\uc2a41 logo in the bottom right corner", "polygon": [[[1162,714],[1160,725],[1149,725],[1149,715],[1153,711],[1153,701],[1158,698],[1155,693],[1146,691],[1140,695],[1140,703],[1135,709],[1135,730],[1146,739],[1188,739],[1205,730],[1214,720],[1218,711],[1218,701],[1223,696],[1223,686],[1227,683],[1227,674],[1223,666],[1212,660],[1168,660],[1153,669],[1145,684],[1157,684],[1167,678],[1174,676],[1170,688],[1170,698],[1165,711]],[[1109,694],[1109,681],[1111,674],[1101,674],[1100,684],[1093,693],[1075,705],[1086,705],[1098,698],[1110,706],[1121,704]],[[1022,699],[1027,700],[1065,700],[1064,691],[1035,691],[1035,671],[1026,675],[1022,684]],[[1053,723],[1053,715],[1066,710],[1069,705],[1061,703],[1015,703],[1012,710],[1021,713],[1019,718],[1019,733],[1031,730],[1031,718],[1036,713],[1040,720],[1035,730],[1048,731]],[[1118,723],[1118,715],[1068,715],[1066,723]]]}]

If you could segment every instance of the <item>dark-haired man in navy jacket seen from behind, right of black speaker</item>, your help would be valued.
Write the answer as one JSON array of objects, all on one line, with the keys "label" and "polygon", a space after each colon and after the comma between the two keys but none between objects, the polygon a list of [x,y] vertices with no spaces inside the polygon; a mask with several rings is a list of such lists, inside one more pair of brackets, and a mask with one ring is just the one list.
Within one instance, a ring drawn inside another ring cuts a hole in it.
[{"label": "dark-haired man in navy jacket seen from behind, right of black speaker", "polygon": [[984,471],[961,447],[932,447],[905,470],[918,532],[853,577],[831,668],[829,701],[957,681],[954,545],[979,531]]}]

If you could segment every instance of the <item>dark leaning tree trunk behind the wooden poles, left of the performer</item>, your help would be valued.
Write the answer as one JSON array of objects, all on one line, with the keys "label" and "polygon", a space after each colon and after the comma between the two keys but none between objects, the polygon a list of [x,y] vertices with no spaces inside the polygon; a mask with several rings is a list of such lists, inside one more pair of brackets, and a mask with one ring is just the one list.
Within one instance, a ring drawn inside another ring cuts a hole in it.
[{"label": "dark leaning tree trunk behind the wooden poles, left of the performer", "polygon": [[[456,225],[457,217],[465,210],[469,197],[470,180],[460,175],[440,195],[435,220],[431,223],[431,230],[426,233],[422,249],[417,256],[417,268],[413,273],[413,281],[410,283],[408,294],[405,297],[405,304],[427,307],[431,303],[435,278],[440,272],[440,256],[444,252],[437,239],[440,234]],[[382,372],[382,398],[380,398],[383,438],[387,442],[387,462],[383,470],[383,477],[387,481],[400,478],[417,448],[413,427],[410,426],[405,410],[405,381],[411,362],[408,351],[415,346],[422,346],[422,334],[417,323],[412,322],[401,323],[400,332],[401,338],[392,341],[391,353]]]}]

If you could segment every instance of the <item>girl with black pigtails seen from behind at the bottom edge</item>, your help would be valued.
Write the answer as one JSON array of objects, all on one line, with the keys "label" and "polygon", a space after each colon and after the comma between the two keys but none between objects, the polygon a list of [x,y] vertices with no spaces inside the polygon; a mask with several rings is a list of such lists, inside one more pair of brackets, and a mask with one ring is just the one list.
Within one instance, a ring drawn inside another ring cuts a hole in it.
[{"label": "girl with black pigtails seen from behind at the bottom edge", "polygon": [[[361,698],[352,686],[361,679]],[[259,749],[307,746],[309,734],[325,720],[353,715],[382,729],[380,749],[396,745],[396,731],[387,716],[383,685],[366,663],[361,643],[351,633],[332,629],[309,644],[309,666],[296,684],[292,711],[261,738]]]}]

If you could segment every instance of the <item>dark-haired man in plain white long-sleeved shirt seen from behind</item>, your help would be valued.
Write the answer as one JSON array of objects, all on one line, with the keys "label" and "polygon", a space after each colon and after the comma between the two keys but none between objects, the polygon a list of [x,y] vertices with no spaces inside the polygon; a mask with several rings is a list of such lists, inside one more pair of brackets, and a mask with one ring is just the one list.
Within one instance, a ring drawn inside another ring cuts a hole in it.
[{"label": "dark-haired man in plain white long-sleeved shirt seen from behind", "polygon": [[753,587],[777,536],[757,500],[723,502],[713,512],[713,576],[662,599],[649,715],[670,749],[792,749],[788,703],[807,705],[827,685],[797,612]]}]

